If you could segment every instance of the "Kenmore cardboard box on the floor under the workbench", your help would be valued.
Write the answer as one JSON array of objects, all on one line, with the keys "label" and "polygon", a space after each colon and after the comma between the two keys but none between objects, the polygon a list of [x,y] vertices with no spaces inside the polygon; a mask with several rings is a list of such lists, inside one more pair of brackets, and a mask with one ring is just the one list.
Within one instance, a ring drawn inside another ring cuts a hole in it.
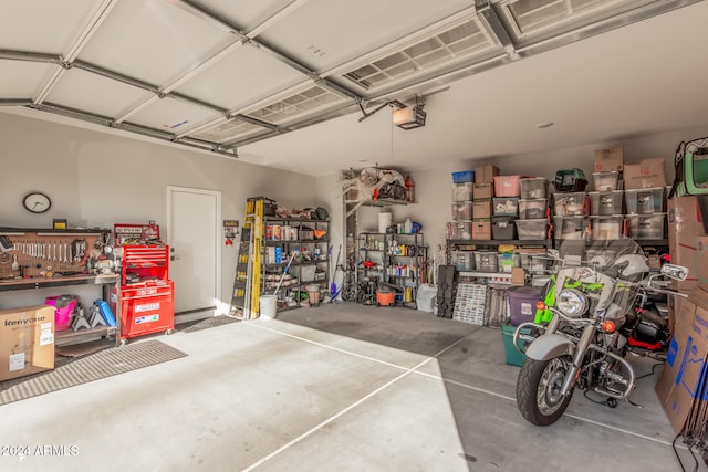
[{"label": "Kenmore cardboard box on the floor under the workbench", "polygon": [[0,311],[0,380],[54,368],[54,307]]}]

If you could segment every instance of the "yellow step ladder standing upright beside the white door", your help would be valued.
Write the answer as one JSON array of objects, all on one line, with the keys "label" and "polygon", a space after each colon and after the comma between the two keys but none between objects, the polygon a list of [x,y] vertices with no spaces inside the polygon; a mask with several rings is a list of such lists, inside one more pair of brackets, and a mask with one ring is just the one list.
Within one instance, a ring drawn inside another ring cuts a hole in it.
[{"label": "yellow step ladder standing upright beside the white door", "polygon": [[266,202],[274,206],[273,200],[253,197],[246,200],[243,229],[236,261],[231,316],[239,319],[253,319],[260,312],[261,258],[263,237],[263,209]]}]

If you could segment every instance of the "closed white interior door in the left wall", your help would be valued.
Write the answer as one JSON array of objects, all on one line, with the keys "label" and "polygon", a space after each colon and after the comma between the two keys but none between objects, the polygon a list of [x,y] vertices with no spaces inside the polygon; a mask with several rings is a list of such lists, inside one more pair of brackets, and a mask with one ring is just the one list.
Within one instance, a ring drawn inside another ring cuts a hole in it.
[{"label": "closed white interior door in the left wall", "polygon": [[219,306],[221,192],[167,187],[169,276],[175,313]]}]

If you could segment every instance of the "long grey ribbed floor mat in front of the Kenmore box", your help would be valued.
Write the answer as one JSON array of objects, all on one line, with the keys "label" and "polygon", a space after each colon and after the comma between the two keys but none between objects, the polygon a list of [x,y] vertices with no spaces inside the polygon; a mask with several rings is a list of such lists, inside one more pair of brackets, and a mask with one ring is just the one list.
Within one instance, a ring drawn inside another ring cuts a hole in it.
[{"label": "long grey ribbed floor mat in front of the Kenmore box", "polygon": [[25,400],[185,356],[187,354],[157,339],[105,349],[46,373],[0,382],[0,405]]}]

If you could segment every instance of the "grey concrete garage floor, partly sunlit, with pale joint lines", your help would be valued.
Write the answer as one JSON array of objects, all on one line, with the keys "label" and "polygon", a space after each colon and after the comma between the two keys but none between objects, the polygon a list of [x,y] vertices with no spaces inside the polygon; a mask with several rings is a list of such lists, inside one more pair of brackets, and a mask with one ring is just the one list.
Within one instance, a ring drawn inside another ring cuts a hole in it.
[{"label": "grey concrete garage floor, partly sunlit, with pale joint lines", "polygon": [[0,407],[0,471],[680,471],[660,368],[537,428],[494,328],[345,303],[158,338],[188,356]]}]

